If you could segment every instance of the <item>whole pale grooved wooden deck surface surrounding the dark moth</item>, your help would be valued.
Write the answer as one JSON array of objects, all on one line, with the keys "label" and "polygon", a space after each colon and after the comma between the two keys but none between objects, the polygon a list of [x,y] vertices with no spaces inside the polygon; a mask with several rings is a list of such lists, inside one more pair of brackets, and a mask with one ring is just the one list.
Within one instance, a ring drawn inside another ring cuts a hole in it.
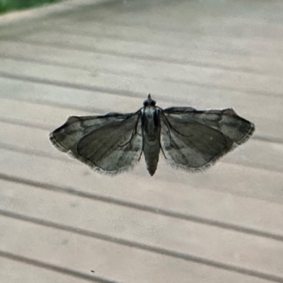
[{"label": "whole pale grooved wooden deck surface surrounding the dark moth", "polygon": [[[13,15],[0,17],[0,282],[283,282],[282,1]],[[143,160],[99,175],[48,140],[69,115],[133,112],[148,93],[233,107],[255,135],[209,171],[161,160],[153,178]]]}]

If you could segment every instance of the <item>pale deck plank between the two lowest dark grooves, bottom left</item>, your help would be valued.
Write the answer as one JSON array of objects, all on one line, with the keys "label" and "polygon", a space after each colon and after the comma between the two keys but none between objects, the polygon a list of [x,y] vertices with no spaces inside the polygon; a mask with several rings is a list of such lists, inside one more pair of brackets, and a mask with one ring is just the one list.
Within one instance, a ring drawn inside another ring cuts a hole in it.
[{"label": "pale deck plank between the two lowest dark grooves, bottom left", "polygon": [[[96,270],[96,275],[118,282],[174,282],[176,278],[178,282],[184,283],[207,280],[215,283],[268,282],[241,273],[200,265],[193,260],[150,253],[148,250],[122,246],[28,221],[4,216],[0,216],[0,221],[4,227],[1,233],[1,250],[40,261],[43,253],[44,261],[49,264],[79,272]],[[21,241],[18,241],[19,233]]]}]

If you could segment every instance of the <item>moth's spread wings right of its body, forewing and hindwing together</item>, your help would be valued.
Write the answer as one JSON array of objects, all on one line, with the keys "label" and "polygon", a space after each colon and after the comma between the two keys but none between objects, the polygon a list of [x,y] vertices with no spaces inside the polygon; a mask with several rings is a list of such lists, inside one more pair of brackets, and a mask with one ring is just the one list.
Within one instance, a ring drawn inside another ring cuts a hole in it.
[{"label": "moth's spread wings right of its body, forewing and hindwing together", "polygon": [[211,166],[253,133],[252,123],[233,110],[167,108],[161,112],[163,150],[168,163],[187,171]]}]

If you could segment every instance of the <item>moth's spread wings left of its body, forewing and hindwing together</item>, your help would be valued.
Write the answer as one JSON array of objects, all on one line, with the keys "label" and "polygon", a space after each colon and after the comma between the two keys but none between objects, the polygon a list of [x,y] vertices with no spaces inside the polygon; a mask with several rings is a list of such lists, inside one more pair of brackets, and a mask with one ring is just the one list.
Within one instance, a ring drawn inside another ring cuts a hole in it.
[{"label": "moth's spread wings left of its body, forewing and hindwing together", "polygon": [[50,134],[61,151],[97,171],[115,174],[131,168],[141,154],[140,111],[69,117]]}]

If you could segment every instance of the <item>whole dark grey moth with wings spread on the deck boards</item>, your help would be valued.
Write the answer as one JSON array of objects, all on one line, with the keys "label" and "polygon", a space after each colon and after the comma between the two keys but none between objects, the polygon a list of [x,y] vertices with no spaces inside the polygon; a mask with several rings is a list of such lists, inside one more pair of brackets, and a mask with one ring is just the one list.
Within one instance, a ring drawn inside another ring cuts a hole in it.
[{"label": "whole dark grey moth with wings spread on the deck boards", "polygon": [[162,109],[148,98],[133,113],[71,116],[50,134],[50,141],[96,171],[117,174],[132,168],[144,154],[152,176],[159,156],[175,168],[202,171],[247,141],[255,125],[231,109]]}]

